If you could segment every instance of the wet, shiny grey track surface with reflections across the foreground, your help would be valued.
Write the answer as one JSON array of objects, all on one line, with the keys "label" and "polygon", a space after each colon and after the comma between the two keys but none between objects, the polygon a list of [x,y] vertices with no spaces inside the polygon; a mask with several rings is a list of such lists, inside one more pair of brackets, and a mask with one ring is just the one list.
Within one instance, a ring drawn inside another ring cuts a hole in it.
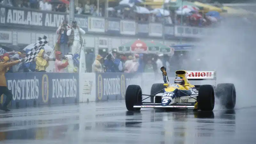
[{"label": "wet, shiny grey track surface with reflections across the foreground", "polygon": [[255,144],[254,107],[213,112],[142,109],[124,102],[0,112],[0,143]]}]

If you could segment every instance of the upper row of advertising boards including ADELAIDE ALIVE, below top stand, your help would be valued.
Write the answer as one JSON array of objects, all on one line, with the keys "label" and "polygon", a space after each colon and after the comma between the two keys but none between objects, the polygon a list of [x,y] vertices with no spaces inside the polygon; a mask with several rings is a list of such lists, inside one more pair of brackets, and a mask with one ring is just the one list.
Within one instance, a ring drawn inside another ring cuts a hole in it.
[{"label": "upper row of advertising boards including ADELAIDE ALIVE, below top stand", "polygon": [[[63,20],[69,21],[64,12],[39,11],[0,5],[1,28],[19,28],[28,30],[56,31]],[[206,28],[175,26],[172,24],[149,23],[118,18],[94,17],[75,14],[75,20],[85,32],[106,34],[109,36],[139,36],[165,39],[176,37],[201,38],[207,35]],[[70,23],[70,21],[69,21]],[[10,43],[10,33],[2,33],[0,41]]]}]

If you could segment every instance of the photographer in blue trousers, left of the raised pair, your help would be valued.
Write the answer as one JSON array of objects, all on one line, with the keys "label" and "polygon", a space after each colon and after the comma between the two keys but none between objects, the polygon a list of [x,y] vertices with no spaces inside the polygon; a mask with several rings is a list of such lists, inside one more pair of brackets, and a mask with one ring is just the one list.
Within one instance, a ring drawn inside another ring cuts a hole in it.
[{"label": "photographer in blue trousers, left of the raised pair", "polygon": [[68,47],[68,35],[67,31],[70,28],[68,25],[67,20],[63,20],[59,28],[57,29],[56,33],[59,35],[57,43],[56,43],[56,51],[60,51],[64,54],[67,54],[69,52],[69,47]]}]

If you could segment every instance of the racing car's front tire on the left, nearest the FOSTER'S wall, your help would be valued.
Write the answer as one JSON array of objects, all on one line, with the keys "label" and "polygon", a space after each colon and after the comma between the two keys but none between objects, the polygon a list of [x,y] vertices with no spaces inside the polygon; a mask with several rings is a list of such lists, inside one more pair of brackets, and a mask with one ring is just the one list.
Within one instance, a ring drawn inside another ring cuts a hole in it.
[{"label": "racing car's front tire on the left, nearest the FOSTER'S wall", "polygon": [[133,108],[135,104],[142,104],[142,91],[139,85],[128,85],[125,93],[125,105],[127,110],[134,111],[140,108]]}]

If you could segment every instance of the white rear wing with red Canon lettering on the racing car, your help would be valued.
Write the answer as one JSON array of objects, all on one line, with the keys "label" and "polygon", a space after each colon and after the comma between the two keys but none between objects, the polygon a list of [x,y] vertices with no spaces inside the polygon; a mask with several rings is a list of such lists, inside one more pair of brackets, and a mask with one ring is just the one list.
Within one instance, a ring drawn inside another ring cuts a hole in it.
[{"label": "white rear wing with red Canon lettering on the racing car", "polygon": [[215,80],[216,71],[187,71],[188,80]]}]

